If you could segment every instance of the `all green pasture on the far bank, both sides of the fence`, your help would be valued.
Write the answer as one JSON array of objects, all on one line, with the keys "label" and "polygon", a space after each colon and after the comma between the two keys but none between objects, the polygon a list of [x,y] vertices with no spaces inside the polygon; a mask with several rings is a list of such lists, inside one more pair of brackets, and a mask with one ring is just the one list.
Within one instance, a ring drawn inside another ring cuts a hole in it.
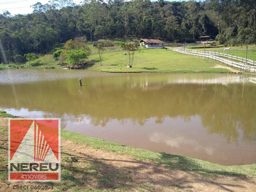
[{"label": "all green pasture on the far bank, both sides of the fence", "polygon": [[[216,64],[220,64],[213,60],[197,58],[195,56],[186,56],[176,52],[167,51],[164,49],[144,49],[135,52],[134,64],[132,68],[127,68],[129,62],[127,51],[120,47],[120,42],[126,41],[124,38],[111,38],[111,39],[99,39],[113,46],[106,47],[106,50],[102,54],[103,66],[100,66],[98,50],[92,46],[92,43],[88,42],[90,48],[90,56],[88,58],[89,64],[86,66],[90,70],[98,70],[102,72],[230,72],[223,68],[213,68]],[[131,39],[139,40],[139,39]],[[212,48],[210,44],[206,44],[206,51],[223,52],[224,46],[218,45]],[[203,46],[188,47],[192,50],[203,51]],[[60,44],[53,48],[52,51],[63,48],[63,44]],[[244,57],[245,58],[245,46],[233,46],[230,51],[224,53]],[[256,60],[256,45],[248,46],[248,58]],[[62,65],[62,62],[57,58],[53,58],[51,54],[39,56],[29,64],[26,62],[26,68],[63,68],[68,65]],[[0,70],[6,68],[24,68],[24,64],[0,64]]]}]

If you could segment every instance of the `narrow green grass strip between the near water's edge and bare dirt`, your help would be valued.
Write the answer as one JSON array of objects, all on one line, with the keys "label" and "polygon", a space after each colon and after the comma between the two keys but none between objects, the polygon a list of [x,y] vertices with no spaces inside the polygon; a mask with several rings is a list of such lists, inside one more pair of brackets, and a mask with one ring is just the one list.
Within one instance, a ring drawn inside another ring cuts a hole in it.
[{"label": "narrow green grass strip between the near water's edge and bare dirt", "polygon": [[164,152],[152,152],[150,150],[133,148],[124,146],[114,142],[108,142],[98,138],[92,138],[62,130],[62,138],[71,140],[78,144],[92,146],[95,149],[100,149],[116,154],[128,155],[134,159],[153,161],[157,164],[164,164],[171,169],[193,170],[204,175],[242,175],[256,176],[256,164],[241,165],[241,166],[222,166],[210,162],[189,158],[186,156],[171,155]]}]

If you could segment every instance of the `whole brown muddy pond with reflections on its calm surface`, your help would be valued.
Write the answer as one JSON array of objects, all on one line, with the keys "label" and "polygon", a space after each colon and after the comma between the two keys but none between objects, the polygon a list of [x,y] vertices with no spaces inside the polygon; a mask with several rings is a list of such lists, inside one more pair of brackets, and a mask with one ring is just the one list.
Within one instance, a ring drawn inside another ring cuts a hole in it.
[{"label": "whole brown muddy pond with reflections on its calm surface", "polygon": [[136,148],[224,165],[256,163],[252,76],[2,70],[0,109],[61,118],[66,130]]}]

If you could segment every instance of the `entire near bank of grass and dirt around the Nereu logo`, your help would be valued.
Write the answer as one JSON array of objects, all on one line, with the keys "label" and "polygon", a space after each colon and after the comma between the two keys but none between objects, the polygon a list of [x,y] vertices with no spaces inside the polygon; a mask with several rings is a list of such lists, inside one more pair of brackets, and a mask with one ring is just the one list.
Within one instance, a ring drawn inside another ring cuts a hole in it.
[{"label": "entire near bank of grass and dirt around the Nereu logo", "polygon": [[[15,191],[12,190],[15,183],[7,182],[6,121],[6,118],[0,118],[0,189],[9,192]],[[221,166],[185,156],[132,148],[66,130],[62,130],[61,137],[61,182],[43,183],[52,186],[48,191],[191,192],[193,188],[204,191],[208,187],[212,190],[207,191],[214,192],[223,188],[238,191],[242,185],[252,187],[250,185],[256,176],[256,164]],[[242,184],[236,186],[236,182]]]}]

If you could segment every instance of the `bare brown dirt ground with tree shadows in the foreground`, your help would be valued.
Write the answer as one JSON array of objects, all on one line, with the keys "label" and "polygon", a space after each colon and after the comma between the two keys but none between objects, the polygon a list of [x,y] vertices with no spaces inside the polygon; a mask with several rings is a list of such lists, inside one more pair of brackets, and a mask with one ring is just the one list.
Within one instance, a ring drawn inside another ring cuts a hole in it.
[{"label": "bare brown dirt ground with tree shadows in the foreground", "polygon": [[[7,126],[6,119],[0,118],[1,126]],[[6,140],[1,142],[7,143]],[[75,158],[77,162],[69,164],[66,160],[70,157]],[[6,167],[2,166],[2,169]],[[90,146],[62,139],[62,183],[58,185],[68,186],[69,182],[72,182],[71,186],[75,185],[86,191],[88,188],[92,189],[88,191],[96,189],[145,192],[256,191],[255,178],[223,175],[206,177],[193,170],[172,170],[160,164],[134,160],[126,155],[96,150]],[[14,185],[15,183],[8,185],[6,180],[0,182],[0,191],[13,191]],[[70,188],[67,191],[74,190]]]}]

